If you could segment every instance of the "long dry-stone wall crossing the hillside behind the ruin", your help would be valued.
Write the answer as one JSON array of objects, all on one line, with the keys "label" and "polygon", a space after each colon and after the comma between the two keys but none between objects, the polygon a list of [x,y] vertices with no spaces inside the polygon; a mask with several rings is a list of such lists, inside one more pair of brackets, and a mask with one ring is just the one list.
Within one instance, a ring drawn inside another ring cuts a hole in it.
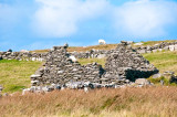
[{"label": "long dry-stone wall crossing the hillside behind the ruin", "polygon": [[[157,51],[177,51],[177,42],[162,42],[153,46],[139,46],[135,50],[143,53],[152,53]],[[87,52],[71,52],[76,59],[103,59],[114,53],[114,50],[91,50]],[[0,52],[0,60],[25,60],[25,61],[44,61],[46,53],[30,53],[30,52]]]}]

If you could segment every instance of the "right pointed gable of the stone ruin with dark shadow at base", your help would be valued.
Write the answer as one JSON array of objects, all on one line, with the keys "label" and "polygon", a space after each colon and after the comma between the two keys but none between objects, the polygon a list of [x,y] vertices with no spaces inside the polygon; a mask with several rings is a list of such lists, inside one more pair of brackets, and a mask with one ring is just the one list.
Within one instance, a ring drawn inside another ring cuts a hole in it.
[{"label": "right pointed gable of the stone ruin with dark shadow at base", "polygon": [[158,70],[149,64],[139,53],[137,53],[126,42],[122,42],[107,56],[105,64],[105,77],[127,78],[134,82],[136,78],[147,78],[158,73]]}]

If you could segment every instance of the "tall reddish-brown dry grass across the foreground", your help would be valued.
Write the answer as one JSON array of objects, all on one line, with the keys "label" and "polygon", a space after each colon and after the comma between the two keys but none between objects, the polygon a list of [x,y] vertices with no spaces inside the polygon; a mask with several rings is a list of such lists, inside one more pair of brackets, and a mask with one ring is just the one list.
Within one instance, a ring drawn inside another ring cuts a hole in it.
[{"label": "tall reddish-brown dry grass across the foreground", "polygon": [[177,117],[176,87],[61,91],[0,98],[1,117]]}]

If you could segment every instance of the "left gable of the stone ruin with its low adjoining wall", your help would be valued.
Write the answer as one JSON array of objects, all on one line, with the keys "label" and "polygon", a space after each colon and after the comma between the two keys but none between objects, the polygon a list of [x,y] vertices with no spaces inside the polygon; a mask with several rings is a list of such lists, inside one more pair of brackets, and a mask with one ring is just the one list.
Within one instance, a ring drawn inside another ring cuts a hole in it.
[{"label": "left gable of the stone ruin with its low adjoining wall", "polygon": [[104,73],[101,65],[93,63],[82,66],[69,57],[65,46],[54,46],[46,55],[46,62],[35,75],[31,76],[32,85],[60,84],[67,82],[98,83]]}]

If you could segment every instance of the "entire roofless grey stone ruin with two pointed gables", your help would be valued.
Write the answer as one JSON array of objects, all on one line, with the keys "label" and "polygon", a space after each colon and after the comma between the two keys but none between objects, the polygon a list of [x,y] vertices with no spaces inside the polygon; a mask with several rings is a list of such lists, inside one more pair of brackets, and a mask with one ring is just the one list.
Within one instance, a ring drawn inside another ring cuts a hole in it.
[{"label": "entire roofless grey stone ruin with two pointed gables", "polygon": [[67,46],[54,46],[46,55],[46,62],[31,76],[32,86],[45,86],[82,82],[107,85],[125,85],[136,78],[145,78],[158,73],[140,54],[133,50],[126,42],[112,50],[106,59],[105,68],[97,63],[81,65],[70,59]]}]

